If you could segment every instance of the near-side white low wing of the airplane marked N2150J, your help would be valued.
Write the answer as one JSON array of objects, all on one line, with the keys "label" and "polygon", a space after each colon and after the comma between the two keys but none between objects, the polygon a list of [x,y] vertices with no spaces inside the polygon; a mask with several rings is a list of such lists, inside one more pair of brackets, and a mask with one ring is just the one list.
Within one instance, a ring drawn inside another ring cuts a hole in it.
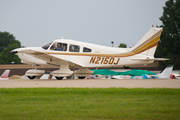
[{"label": "near-side white low wing of the airplane marked N2150J", "polygon": [[64,58],[59,58],[56,56],[52,56],[50,54],[41,52],[41,51],[36,51],[36,50],[23,50],[20,53],[26,53],[30,56],[36,57],[38,59],[44,60],[47,62],[47,64],[51,65],[60,65],[60,64],[69,64],[70,66],[82,66],[80,64],[74,63],[72,61],[66,60]]}]

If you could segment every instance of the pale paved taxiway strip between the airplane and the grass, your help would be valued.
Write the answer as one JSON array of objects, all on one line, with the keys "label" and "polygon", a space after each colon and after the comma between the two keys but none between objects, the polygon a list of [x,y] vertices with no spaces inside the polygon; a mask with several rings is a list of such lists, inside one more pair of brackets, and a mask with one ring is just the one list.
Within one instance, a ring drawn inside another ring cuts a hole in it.
[{"label": "pale paved taxiway strip between the airplane and the grass", "polygon": [[0,88],[26,87],[75,87],[75,88],[180,88],[178,79],[85,79],[85,80],[0,80]]}]

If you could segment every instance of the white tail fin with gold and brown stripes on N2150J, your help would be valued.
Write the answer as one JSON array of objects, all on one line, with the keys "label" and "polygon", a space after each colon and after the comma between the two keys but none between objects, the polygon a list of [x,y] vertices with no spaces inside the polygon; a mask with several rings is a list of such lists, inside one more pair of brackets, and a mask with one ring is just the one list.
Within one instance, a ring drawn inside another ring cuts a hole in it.
[{"label": "white tail fin with gold and brown stripes on N2150J", "polygon": [[136,54],[154,56],[161,32],[162,28],[151,28],[131,51]]}]

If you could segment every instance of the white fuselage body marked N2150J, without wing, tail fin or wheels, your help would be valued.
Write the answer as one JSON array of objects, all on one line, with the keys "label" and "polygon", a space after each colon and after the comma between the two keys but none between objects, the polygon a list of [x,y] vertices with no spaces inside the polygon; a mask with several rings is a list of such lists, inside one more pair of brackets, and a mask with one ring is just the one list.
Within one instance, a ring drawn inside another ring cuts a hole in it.
[{"label": "white fuselage body marked N2150J, without wing, tail fin or wheels", "polygon": [[[61,42],[67,44],[67,50],[66,51],[56,51],[51,50],[51,46],[54,43]],[[79,46],[78,52],[72,52],[70,51],[70,45],[77,45]],[[84,52],[83,49],[88,48],[91,51],[90,52]],[[149,61],[136,61],[132,60],[132,58],[146,58],[152,56],[146,56],[141,54],[133,54],[129,55],[131,52],[128,48],[112,48],[112,47],[105,47],[101,45],[95,45],[90,43],[84,43],[84,42],[78,42],[73,40],[55,40],[53,41],[47,49],[43,49],[42,47],[27,47],[27,48],[18,48],[14,51],[19,51],[17,55],[22,60],[22,63],[27,64],[54,64],[54,65],[61,65],[62,62],[53,62],[51,60],[42,60],[39,59],[38,55],[29,55],[20,51],[24,50],[33,50],[37,52],[42,52],[45,54],[48,54],[49,56],[53,56],[55,58],[59,58],[65,61],[69,61],[72,63],[76,63],[79,66],[82,67],[113,67],[113,66],[129,66],[129,65],[137,65],[137,64],[149,64],[152,63],[153,60]],[[51,58],[49,58],[51,59]],[[52,63],[51,63],[52,62]],[[71,65],[71,64],[70,64]]]}]

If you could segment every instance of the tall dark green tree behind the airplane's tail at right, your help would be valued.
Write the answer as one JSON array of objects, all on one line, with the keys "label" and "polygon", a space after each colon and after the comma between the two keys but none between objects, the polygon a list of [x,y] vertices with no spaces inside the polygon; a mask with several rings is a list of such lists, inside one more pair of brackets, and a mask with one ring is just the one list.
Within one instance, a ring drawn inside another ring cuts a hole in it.
[{"label": "tall dark green tree behind the airplane's tail at right", "polygon": [[174,69],[180,69],[180,0],[168,0],[163,7],[163,32],[155,53],[155,57],[169,58],[160,62],[161,66],[173,64]]}]

